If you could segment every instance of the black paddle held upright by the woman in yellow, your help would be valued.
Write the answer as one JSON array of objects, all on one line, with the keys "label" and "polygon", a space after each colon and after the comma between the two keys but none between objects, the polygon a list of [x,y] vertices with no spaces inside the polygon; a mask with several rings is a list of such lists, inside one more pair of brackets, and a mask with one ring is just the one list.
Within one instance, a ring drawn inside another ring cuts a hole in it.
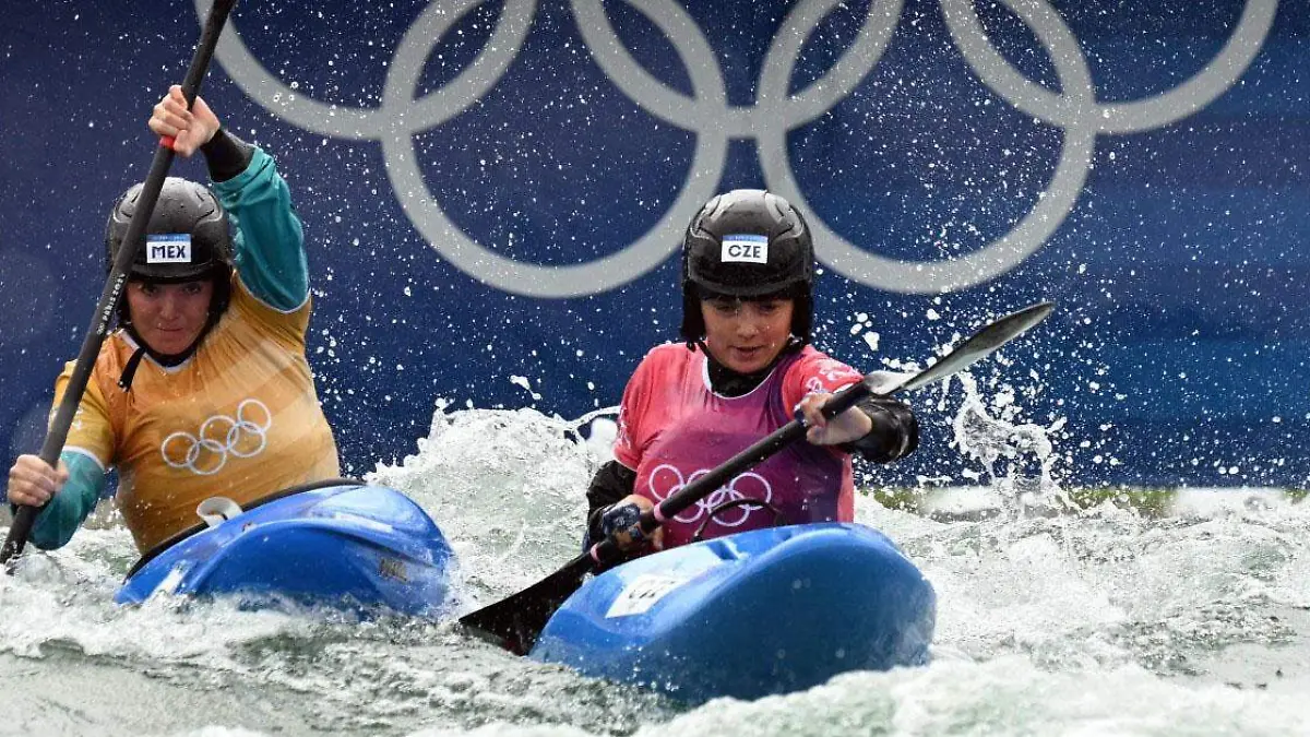
[{"label": "black paddle held upright by the woman in yellow", "polygon": [[[236,5],[236,1],[215,0],[214,7],[210,8],[210,16],[204,20],[204,30],[200,33],[200,42],[195,47],[195,55],[191,56],[191,66],[186,70],[186,79],[182,80],[182,94],[186,96],[187,108],[195,102],[195,96],[200,90],[200,81],[210,68],[214,47],[219,43],[219,34],[228,22],[228,14],[232,12],[232,7]],[[151,170],[145,176],[145,184],[136,201],[136,211],[132,214],[132,220],[127,224],[127,235],[123,236],[123,248],[119,248],[118,254],[114,257],[109,278],[105,279],[105,289],[100,295],[100,303],[96,304],[96,313],[92,316],[90,328],[86,329],[81,350],[77,351],[77,363],[73,366],[68,388],[64,389],[64,397],[60,400],[55,418],[50,422],[50,429],[46,431],[46,441],[41,446],[41,459],[48,463],[51,468],[55,468],[59,463],[59,454],[64,450],[64,442],[68,439],[68,428],[72,426],[73,414],[77,413],[77,405],[81,404],[83,392],[86,391],[86,382],[90,379],[90,370],[96,365],[96,357],[100,355],[101,344],[105,342],[105,337],[109,334],[109,324],[123,294],[127,271],[131,268],[132,258],[136,257],[136,244],[145,235],[145,227],[151,222],[151,214],[155,212],[155,203],[159,201],[160,190],[164,188],[164,178],[168,176],[169,167],[173,165],[172,147],[173,142],[170,139],[162,139],[159,148],[155,149]],[[18,508],[13,517],[13,526],[9,527],[9,536],[5,538],[4,547],[0,547],[0,564],[8,563],[10,557],[22,552],[39,511],[34,506]],[[9,567],[5,570],[9,570]]]}]

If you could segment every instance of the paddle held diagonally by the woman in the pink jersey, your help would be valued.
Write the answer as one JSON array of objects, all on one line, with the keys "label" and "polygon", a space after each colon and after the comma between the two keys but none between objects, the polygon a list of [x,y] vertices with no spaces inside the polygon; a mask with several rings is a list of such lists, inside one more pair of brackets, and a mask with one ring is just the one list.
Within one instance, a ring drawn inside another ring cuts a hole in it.
[{"label": "paddle held diagonally by the woman in the pink jersey", "polygon": [[[869,374],[862,382],[838,389],[832,400],[824,405],[824,417],[834,417],[850,409],[866,396],[875,393],[879,396],[891,396],[900,391],[917,389],[962,371],[1044,320],[1052,308],[1053,304],[1049,302],[1041,302],[1026,307],[1014,315],[1001,317],[975,333],[933,366],[918,374],[905,376],[899,383],[887,386],[884,378],[878,376],[878,374]],[[882,386],[875,387],[875,383]],[[726,463],[692,484],[688,484],[660,502],[654,510],[643,513],[637,522],[637,527],[641,527],[643,535],[650,536],[663,521],[671,519],[684,509],[709,496],[714,489],[718,489],[738,473],[755,467],[787,445],[803,438],[806,430],[807,428],[800,420],[793,420],[778,428],[769,437],[734,455]],[[588,573],[613,561],[621,552],[618,540],[629,538],[634,532],[634,530],[614,532],[531,588],[491,606],[466,614],[460,618],[460,623],[491,636],[502,647],[516,654],[527,654],[532,649],[533,643],[536,643],[537,635],[541,633],[546,622],[563,605],[565,599],[582,586]]]}]

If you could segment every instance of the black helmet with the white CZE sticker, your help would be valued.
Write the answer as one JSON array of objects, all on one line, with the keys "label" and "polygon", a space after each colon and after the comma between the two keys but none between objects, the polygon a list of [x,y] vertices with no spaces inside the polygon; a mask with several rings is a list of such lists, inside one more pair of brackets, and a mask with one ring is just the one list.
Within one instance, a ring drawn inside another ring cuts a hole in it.
[{"label": "black helmet with the white CZE sticker", "polygon": [[762,189],[735,189],[705,203],[683,241],[683,340],[705,336],[710,295],[795,300],[791,334],[810,342],[814,243],[800,211]]}]

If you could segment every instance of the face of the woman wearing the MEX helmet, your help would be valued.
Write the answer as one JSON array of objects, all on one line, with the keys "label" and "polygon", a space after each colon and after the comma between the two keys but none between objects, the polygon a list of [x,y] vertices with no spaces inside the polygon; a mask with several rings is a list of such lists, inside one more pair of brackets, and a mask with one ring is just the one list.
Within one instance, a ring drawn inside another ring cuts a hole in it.
[{"label": "face of the woman wearing the MEX helmet", "polygon": [[176,285],[128,282],[127,313],[136,334],[155,353],[176,355],[191,348],[210,320],[214,282]]}]

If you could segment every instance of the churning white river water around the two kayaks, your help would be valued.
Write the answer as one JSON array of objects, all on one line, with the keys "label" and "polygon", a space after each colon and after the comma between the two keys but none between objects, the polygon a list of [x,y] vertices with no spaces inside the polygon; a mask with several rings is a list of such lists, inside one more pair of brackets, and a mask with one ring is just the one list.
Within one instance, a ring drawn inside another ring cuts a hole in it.
[{"label": "churning white river water around the two kayaks", "polygon": [[[956,418],[956,450],[996,471],[1007,448],[986,438],[998,421],[969,409]],[[415,455],[368,476],[413,496],[451,538],[458,607],[519,590],[576,553],[580,489],[599,462],[576,426],[533,410],[439,409]],[[1041,429],[1002,429],[1014,447],[1049,452]],[[118,607],[135,551],[107,514],[0,577],[0,734],[1310,729],[1310,505],[1189,489],[1165,514],[1112,501],[1056,514],[1062,492],[1048,475],[982,479],[934,497],[935,514],[872,494],[857,505],[937,588],[930,665],[697,708],[516,658],[448,620],[174,599]]]}]

